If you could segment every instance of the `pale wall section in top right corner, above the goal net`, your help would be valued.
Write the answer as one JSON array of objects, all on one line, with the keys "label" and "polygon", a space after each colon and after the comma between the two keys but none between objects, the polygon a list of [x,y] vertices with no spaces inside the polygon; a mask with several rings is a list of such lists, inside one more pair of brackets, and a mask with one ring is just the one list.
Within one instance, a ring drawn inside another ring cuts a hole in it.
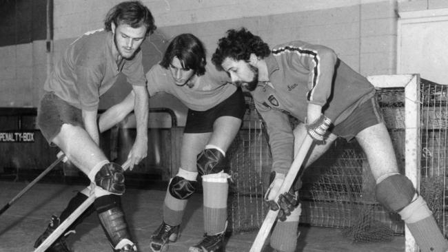
[{"label": "pale wall section in top right corner, above the goal net", "polygon": [[398,6],[397,72],[448,81],[448,1],[411,1]]}]

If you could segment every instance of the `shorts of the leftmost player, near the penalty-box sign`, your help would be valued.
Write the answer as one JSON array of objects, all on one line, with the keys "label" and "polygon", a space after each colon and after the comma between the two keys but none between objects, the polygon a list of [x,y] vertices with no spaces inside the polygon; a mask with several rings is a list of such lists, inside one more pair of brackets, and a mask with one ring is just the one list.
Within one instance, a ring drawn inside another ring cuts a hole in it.
[{"label": "shorts of the leftmost player, near the penalty-box sign", "polygon": [[64,123],[84,127],[81,109],[69,105],[54,92],[47,92],[43,95],[36,123],[50,145],[52,145],[53,138],[61,132]]}]

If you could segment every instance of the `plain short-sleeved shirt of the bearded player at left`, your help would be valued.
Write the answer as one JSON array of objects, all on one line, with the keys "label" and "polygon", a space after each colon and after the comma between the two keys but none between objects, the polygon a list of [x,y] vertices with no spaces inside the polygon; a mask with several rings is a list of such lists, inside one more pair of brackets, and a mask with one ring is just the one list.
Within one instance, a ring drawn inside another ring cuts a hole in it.
[{"label": "plain short-sleeved shirt of the bearded player at left", "polygon": [[71,43],[61,60],[54,66],[44,85],[46,92],[54,92],[63,101],[79,109],[98,109],[99,97],[114,85],[120,73],[131,85],[146,85],[142,52],[117,65],[112,48],[112,32],[87,32]]}]

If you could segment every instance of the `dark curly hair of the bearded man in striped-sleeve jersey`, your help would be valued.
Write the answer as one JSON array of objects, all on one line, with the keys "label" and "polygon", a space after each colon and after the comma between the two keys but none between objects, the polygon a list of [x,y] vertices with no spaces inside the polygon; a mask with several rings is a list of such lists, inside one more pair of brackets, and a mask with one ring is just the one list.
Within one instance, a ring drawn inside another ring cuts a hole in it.
[{"label": "dark curly hair of the bearded man in striped-sleeve jersey", "polygon": [[223,70],[221,64],[225,58],[249,61],[252,53],[262,59],[271,53],[269,45],[246,28],[231,29],[226,33],[227,36],[218,40],[218,48],[212,56],[212,62],[219,70]]}]

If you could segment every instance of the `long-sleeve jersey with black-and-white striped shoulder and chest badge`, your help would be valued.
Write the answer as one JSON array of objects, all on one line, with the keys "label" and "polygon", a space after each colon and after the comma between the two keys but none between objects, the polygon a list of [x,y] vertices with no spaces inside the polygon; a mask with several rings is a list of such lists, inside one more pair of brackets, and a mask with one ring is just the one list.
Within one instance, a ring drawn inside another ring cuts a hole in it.
[{"label": "long-sleeve jersey with black-and-white striped shoulder and chest badge", "polygon": [[374,96],[374,86],[322,45],[294,41],[278,45],[265,58],[269,83],[252,92],[263,117],[272,151],[272,169],[286,173],[294,156],[294,136],[287,114],[305,122],[309,103],[323,107],[334,125]]}]

